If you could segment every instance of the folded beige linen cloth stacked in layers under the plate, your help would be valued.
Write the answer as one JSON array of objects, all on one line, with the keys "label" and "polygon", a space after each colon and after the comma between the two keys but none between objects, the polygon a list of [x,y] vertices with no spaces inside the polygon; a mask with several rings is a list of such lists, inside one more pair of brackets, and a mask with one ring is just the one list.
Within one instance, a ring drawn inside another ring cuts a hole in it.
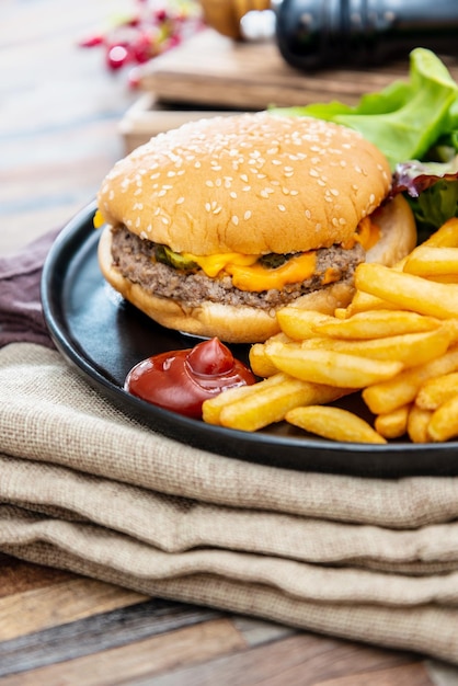
[{"label": "folded beige linen cloth stacked in layers under the plate", "polygon": [[0,350],[0,550],[458,663],[458,479],[296,472],[192,448],[33,343]]}]

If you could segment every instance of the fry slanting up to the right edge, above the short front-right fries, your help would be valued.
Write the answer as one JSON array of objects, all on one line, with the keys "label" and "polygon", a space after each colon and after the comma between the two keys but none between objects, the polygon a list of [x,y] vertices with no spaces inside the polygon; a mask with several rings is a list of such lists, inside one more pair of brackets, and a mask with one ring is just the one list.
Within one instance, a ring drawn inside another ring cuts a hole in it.
[{"label": "fry slanting up to the right edge, above the short front-right fries", "polygon": [[374,414],[392,412],[415,400],[420,387],[435,376],[458,369],[458,346],[440,357],[401,371],[396,377],[363,390],[363,400]]}]

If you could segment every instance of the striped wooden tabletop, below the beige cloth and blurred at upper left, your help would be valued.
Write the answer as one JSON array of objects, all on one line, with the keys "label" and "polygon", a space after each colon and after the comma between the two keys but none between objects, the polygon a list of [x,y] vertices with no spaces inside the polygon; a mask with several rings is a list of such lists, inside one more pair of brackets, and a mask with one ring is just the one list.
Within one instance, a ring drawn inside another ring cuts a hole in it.
[{"label": "striped wooden tabletop, below the beige cloth and blurred at upper left", "polygon": [[[138,98],[76,47],[121,0],[3,0],[0,254],[64,225],[123,155]],[[0,439],[1,441],[1,439]],[[0,476],[1,478],[1,476]],[[0,554],[0,684],[451,686],[458,670],[293,631]]]}]

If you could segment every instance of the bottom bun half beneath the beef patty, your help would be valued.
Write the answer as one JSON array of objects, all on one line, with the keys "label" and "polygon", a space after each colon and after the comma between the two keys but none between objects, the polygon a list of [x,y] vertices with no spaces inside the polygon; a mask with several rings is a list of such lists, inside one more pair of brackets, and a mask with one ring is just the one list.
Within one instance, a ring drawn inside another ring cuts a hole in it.
[{"label": "bottom bun half beneath the beef patty", "polygon": [[[380,239],[366,253],[366,262],[391,266],[404,258],[416,243],[416,228],[408,202],[401,196],[386,203],[378,210]],[[199,336],[217,336],[226,343],[261,343],[278,333],[276,311],[254,307],[222,305],[206,301],[198,307],[153,296],[125,278],[113,265],[112,231],[107,226],[99,242],[99,263],[103,276],[126,300],[162,327]],[[332,315],[337,307],[346,307],[354,295],[352,281],[337,282],[300,296],[294,305],[301,309]]]}]

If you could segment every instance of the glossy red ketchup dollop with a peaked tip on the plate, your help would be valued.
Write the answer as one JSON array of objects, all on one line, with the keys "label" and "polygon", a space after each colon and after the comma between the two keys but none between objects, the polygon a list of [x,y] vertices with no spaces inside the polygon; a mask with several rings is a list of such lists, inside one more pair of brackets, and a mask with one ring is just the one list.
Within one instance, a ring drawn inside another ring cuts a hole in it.
[{"label": "glossy red ketchup dollop with a peaked tip on the plate", "polygon": [[215,338],[144,359],[130,369],[124,388],[165,410],[202,419],[204,400],[254,382],[252,371]]}]

